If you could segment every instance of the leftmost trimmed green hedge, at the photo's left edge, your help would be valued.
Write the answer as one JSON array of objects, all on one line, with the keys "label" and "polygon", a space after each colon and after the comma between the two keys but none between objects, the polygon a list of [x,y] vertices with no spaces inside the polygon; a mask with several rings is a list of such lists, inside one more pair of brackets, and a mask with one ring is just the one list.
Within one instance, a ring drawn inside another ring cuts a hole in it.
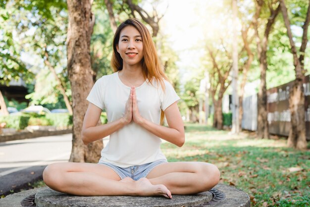
[{"label": "leftmost trimmed green hedge, at the photo's left edge", "polygon": [[27,115],[8,115],[1,116],[0,122],[6,123],[6,128],[14,128],[16,130],[25,129],[28,126],[30,116]]}]

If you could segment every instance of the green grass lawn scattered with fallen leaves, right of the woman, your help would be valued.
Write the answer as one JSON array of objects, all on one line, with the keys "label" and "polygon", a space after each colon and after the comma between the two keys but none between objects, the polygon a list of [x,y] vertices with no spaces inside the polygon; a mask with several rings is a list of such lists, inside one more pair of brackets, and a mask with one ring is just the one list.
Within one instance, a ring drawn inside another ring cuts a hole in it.
[{"label": "green grass lawn scattered with fallen leaves, right of the woman", "polygon": [[[231,135],[186,124],[186,143],[161,145],[168,161],[203,161],[221,171],[220,183],[251,196],[252,206],[310,205],[310,151],[286,147],[286,139],[257,139],[253,133]],[[293,171],[297,167],[299,171]]]}]

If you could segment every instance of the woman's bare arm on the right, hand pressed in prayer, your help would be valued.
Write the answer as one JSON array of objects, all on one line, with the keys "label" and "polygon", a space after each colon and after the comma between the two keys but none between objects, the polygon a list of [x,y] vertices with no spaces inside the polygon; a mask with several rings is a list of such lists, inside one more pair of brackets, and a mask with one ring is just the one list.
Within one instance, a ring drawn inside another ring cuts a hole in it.
[{"label": "woman's bare arm on the right, hand pressed in prayer", "polygon": [[182,147],[185,142],[184,124],[177,103],[171,104],[164,111],[169,127],[161,126],[143,118],[138,109],[136,91],[133,90],[133,120],[140,126],[178,147]]}]

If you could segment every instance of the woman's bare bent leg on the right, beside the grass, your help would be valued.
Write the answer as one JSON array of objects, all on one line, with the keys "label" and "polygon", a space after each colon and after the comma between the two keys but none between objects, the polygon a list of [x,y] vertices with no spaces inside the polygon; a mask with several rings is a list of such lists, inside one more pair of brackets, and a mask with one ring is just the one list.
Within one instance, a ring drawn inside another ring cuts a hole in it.
[{"label": "woman's bare bent leg on the right, beside the grass", "polygon": [[163,184],[171,194],[186,195],[210,190],[219,182],[218,168],[205,162],[167,162],[148,174],[152,184]]}]

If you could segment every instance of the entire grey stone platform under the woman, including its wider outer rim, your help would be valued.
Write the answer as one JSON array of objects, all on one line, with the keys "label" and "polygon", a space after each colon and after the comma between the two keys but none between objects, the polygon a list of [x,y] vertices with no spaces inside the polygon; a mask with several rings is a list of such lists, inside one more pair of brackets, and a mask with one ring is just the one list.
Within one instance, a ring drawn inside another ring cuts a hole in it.
[{"label": "entire grey stone platform under the woman, including its wider outer rim", "polygon": [[9,195],[0,199],[2,207],[250,207],[245,192],[223,184],[196,195],[164,197],[134,196],[72,196],[38,188]]}]

